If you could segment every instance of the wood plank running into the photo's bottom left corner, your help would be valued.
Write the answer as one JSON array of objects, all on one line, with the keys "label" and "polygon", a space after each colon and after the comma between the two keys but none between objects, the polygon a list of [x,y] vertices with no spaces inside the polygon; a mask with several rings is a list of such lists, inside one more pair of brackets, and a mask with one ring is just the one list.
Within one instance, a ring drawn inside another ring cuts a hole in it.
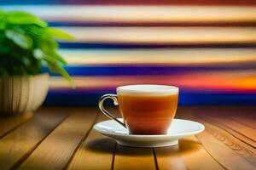
[{"label": "wood plank running into the photo's bottom left corner", "polygon": [[9,169],[23,161],[66,116],[62,111],[40,111],[0,139],[0,169]]}]

